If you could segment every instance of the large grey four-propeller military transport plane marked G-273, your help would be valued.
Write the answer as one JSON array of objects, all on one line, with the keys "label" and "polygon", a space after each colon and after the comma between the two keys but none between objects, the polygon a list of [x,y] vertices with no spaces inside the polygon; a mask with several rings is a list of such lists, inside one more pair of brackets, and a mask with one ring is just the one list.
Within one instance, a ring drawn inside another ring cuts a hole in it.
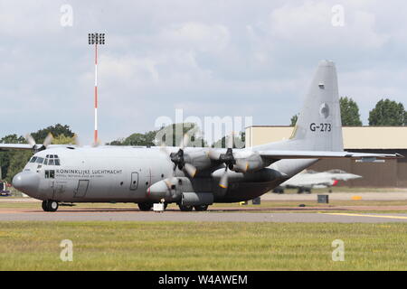
[{"label": "large grey four-propeller military transport plane marked G-273", "polygon": [[[272,108],[270,107],[270,112]],[[101,145],[0,144],[33,149],[14,188],[43,200],[43,210],[78,202],[133,202],[140,210],[175,202],[180,210],[207,210],[213,202],[252,200],[319,159],[361,162],[402,157],[343,150],[342,126],[332,61],[320,61],[305,105],[289,140],[244,149]],[[184,142],[183,142],[184,144]]]}]

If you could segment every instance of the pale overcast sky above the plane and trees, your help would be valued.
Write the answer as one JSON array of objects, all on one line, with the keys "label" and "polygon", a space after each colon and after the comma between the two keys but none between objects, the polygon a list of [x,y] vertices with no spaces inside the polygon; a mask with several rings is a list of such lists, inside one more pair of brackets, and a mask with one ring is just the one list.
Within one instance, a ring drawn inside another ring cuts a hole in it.
[{"label": "pale overcast sky above the plane and trees", "polygon": [[176,108],[289,125],[324,59],[366,125],[379,99],[407,104],[406,11],[401,0],[0,0],[0,136],[61,123],[91,143],[90,32],[106,33],[102,142],[156,129]]}]

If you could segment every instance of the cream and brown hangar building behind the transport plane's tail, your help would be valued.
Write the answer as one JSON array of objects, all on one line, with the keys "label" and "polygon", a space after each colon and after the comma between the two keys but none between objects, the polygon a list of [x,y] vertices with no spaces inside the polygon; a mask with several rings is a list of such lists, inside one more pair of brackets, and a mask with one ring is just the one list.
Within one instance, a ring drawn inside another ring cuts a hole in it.
[{"label": "cream and brown hangar building behind the transport plane's tail", "polygon": [[[293,126],[249,126],[246,147],[289,139]],[[355,163],[354,160],[321,160],[310,170],[341,169],[362,175],[362,179],[339,182],[351,187],[407,188],[407,126],[344,126],[344,149],[358,153],[402,154],[406,158],[385,163]]]}]

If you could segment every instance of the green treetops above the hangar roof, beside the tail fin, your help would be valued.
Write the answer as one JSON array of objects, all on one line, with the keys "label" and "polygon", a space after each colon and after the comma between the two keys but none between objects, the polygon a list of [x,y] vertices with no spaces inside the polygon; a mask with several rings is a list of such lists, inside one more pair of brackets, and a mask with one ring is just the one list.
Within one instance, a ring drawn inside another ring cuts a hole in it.
[{"label": "green treetops above the hangar roof, beside the tail fin", "polygon": [[[359,107],[352,98],[340,98],[342,126],[362,126]],[[297,123],[298,115],[291,117],[291,126]],[[402,103],[381,99],[376,106],[369,111],[369,126],[406,126],[407,112]]]}]

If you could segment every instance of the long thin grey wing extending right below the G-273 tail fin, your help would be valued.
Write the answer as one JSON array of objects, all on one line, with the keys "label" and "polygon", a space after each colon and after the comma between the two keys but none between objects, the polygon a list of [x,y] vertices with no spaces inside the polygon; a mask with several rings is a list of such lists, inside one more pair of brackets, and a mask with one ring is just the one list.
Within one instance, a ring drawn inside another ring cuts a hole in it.
[{"label": "long thin grey wing extending right below the G-273 tail fin", "polygon": [[328,151],[260,151],[261,157],[266,159],[336,159],[350,158],[362,162],[374,162],[376,160],[403,158],[402,154],[370,154],[352,152],[328,152]]}]

